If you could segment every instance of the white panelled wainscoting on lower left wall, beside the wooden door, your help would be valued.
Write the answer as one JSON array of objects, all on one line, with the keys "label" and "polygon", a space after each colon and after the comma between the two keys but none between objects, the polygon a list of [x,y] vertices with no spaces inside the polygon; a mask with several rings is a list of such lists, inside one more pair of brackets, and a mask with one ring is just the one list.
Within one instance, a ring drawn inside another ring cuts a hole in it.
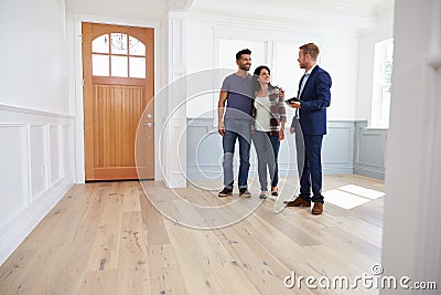
[{"label": "white panelled wainscoting on lower left wall, beside the wooden door", "polygon": [[0,265],[73,185],[73,124],[0,104]]}]

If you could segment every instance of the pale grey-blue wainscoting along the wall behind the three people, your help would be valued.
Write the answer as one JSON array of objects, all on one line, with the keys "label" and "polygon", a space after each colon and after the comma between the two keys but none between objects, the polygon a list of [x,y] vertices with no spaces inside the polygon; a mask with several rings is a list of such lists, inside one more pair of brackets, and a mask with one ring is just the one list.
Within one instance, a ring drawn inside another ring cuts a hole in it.
[{"label": "pale grey-blue wainscoting along the wall behind the three people", "polygon": [[[375,178],[384,176],[386,130],[366,129],[366,122],[331,120],[323,140],[325,175],[361,173]],[[280,176],[297,175],[295,143],[286,130],[280,145]],[[236,146],[238,150],[238,145]],[[236,152],[237,154],[237,152]],[[187,177],[190,179],[222,177],[222,137],[211,118],[187,119]],[[237,156],[237,155],[236,155]],[[235,169],[237,169],[237,157]],[[250,177],[256,175],[256,152],[251,148]]]}]

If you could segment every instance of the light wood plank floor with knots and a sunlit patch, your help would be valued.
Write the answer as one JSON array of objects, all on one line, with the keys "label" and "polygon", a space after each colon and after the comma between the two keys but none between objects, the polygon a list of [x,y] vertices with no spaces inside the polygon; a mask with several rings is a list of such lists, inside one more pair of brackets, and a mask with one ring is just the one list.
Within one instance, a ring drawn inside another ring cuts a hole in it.
[{"label": "light wood plank floor with knots and a sunlit patch", "polygon": [[[384,191],[379,180],[324,178],[324,190],[345,185]],[[161,182],[146,187],[155,198],[171,191]],[[239,199],[192,186],[180,194],[202,204]],[[372,274],[383,199],[349,210],[325,203],[322,215],[305,208],[275,213],[267,199],[240,222],[196,230],[159,213],[137,181],[76,185],[1,265],[0,294],[376,294],[363,286],[289,289],[283,280],[292,272],[318,280]]]}]

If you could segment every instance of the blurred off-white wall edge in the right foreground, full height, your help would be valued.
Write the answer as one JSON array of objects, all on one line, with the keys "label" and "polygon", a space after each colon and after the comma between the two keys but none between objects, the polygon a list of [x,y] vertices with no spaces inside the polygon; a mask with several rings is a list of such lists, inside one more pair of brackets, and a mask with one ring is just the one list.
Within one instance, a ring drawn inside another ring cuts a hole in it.
[{"label": "blurred off-white wall edge in the right foreground, full height", "polygon": [[[438,291],[408,294],[440,294],[441,2],[399,0],[395,19],[383,266],[411,283],[438,281]],[[404,291],[381,292],[390,293]]]}]

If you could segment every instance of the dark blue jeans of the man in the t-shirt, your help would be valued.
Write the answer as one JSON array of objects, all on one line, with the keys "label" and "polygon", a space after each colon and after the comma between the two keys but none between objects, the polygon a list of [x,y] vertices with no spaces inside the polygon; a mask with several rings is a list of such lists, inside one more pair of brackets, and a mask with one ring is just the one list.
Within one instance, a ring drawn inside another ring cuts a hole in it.
[{"label": "dark blue jeans of the man in the t-shirt", "polygon": [[249,149],[251,147],[251,120],[246,119],[225,119],[225,134],[222,138],[224,148],[224,187],[233,190],[234,173],[233,159],[235,152],[236,140],[239,140],[239,189],[248,188],[249,171]]}]

